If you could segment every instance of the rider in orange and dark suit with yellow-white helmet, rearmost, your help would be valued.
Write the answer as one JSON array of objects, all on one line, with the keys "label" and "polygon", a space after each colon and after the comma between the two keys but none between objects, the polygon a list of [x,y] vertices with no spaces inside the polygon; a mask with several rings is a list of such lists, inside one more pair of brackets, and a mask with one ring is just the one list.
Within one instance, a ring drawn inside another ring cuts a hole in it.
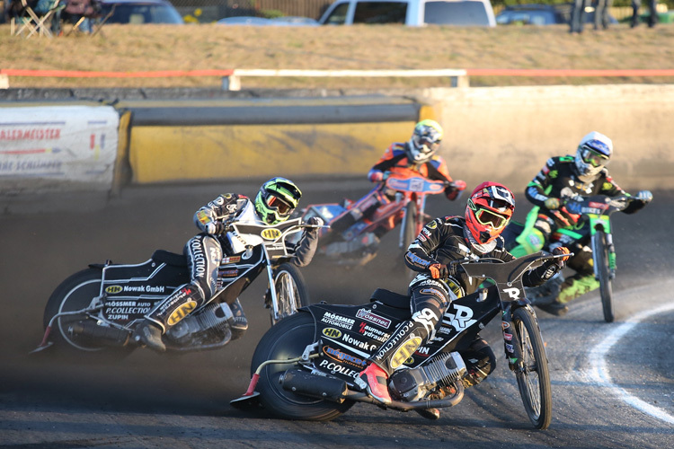
[{"label": "rider in orange and dark suit with yellow-white helmet, rearmost", "polygon": [[[449,176],[447,163],[442,157],[436,155],[443,135],[442,128],[437,121],[421,120],[414,127],[412,137],[408,142],[395,142],[386,149],[381,159],[368,172],[368,180],[380,183],[392,173],[412,169],[428,180],[451,182],[452,184],[445,188],[445,195],[450,200],[456,199],[458,194],[466,189],[466,182],[453,181]],[[394,198],[395,191],[386,192],[385,200],[392,201]],[[359,200],[358,205],[337,217],[330,227],[336,233],[341,233],[362,217],[371,216],[380,206],[380,200],[376,193],[373,193],[368,198]]]}]

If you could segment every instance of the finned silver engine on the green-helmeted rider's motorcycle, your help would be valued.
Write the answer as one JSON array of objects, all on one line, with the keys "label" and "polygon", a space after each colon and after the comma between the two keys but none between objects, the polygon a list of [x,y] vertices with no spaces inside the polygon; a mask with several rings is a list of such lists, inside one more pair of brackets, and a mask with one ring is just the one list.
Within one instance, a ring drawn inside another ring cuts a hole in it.
[{"label": "finned silver engine on the green-helmeted rider's motorcycle", "polygon": [[166,337],[181,345],[217,343],[231,337],[230,321],[234,320],[229,304],[209,304],[178,322],[166,332]]}]

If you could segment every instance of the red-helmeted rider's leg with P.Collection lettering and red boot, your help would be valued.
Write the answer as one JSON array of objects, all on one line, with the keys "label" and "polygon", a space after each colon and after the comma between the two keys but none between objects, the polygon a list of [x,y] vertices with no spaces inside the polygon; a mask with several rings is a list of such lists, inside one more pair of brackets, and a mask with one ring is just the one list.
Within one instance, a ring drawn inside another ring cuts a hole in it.
[{"label": "red-helmeted rider's leg with P.Collection lettering and red boot", "polygon": [[368,359],[368,367],[356,379],[360,388],[377,401],[391,402],[388,377],[412,356],[427,339],[435,335],[436,327],[449,306],[448,293],[441,283],[424,281],[412,288],[412,319],[401,324],[389,339]]}]

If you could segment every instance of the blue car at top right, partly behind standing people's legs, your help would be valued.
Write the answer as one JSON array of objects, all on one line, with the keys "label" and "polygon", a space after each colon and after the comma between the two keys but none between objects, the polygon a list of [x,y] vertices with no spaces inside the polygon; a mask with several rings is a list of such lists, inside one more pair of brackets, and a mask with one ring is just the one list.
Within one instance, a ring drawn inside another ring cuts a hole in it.
[{"label": "blue car at top right, partly behind standing people's legs", "polygon": [[[513,4],[506,6],[496,15],[499,25],[555,25],[569,23],[572,4]],[[616,18],[609,15],[610,23],[617,23]],[[584,21],[594,23],[594,8],[585,8]]]}]

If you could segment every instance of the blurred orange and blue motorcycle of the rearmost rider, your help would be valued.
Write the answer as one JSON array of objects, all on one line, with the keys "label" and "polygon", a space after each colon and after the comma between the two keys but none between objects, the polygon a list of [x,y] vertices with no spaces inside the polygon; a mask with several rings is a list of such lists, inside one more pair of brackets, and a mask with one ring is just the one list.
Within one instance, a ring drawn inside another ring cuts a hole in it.
[{"label": "blurred orange and blue motorcycle of the rearmost rider", "polygon": [[[406,251],[431,217],[425,213],[426,198],[443,193],[448,183],[427,180],[419,172],[389,172],[384,182],[358,201],[344,199],[341,203],[315,204],[303,210],[304,220],[320,217],[326,225],[351,210],[371,210],[346,230],[326,229],[321,235],[316,255],[340,265],[365,265],[377,256],[379,239],[400,225],[398,246]],[[457,198],[459,198],[459,192]],[[393,199],[392,199],[393,198]]]}]

